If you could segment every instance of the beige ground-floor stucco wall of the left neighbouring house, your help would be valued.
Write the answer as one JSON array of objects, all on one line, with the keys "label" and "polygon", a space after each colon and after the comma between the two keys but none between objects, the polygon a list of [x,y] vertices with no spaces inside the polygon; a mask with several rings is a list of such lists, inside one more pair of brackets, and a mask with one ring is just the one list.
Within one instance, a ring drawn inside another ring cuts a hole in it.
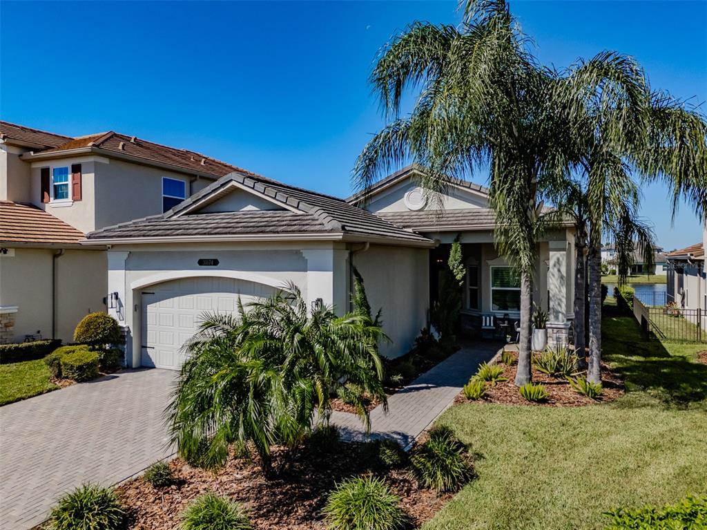
[{"label": "beige ground-floor stucco wall of the left neighbouring house", "polygon": [[[52,336],[53,249],[15,248],[14,256],[0,258],[0,306],[18,306],[15,338],[40,330]],[[104,311],[107,293],[106,253],[66,250],[57,258],[56,338],[72,340],[78,321],[90,311]]]}]

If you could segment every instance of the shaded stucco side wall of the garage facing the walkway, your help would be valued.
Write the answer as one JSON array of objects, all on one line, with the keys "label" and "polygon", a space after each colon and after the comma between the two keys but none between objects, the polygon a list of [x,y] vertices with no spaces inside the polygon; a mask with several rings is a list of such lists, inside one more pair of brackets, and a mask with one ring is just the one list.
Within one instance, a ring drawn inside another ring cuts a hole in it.
[{"label": "shaded stucco side wall of the garage facing the walkway", "polygon": [[383,330],[392,341],[381,345],[381,354],[404,355],[427,325],[428,250],[372,245],[352,261],[363,276],[371,309],[382,309]]}]

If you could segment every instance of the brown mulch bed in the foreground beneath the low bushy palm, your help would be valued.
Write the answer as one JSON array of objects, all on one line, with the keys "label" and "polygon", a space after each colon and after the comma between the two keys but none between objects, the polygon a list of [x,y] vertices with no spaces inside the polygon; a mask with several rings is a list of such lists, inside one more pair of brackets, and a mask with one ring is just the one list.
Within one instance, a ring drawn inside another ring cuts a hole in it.
[{"label": "brown mulch bed in the foreground beneath the low bushy palm", "polygon": [[[322,508],[329,491],[341,480],[367,472],[356,444],[341,444],[332,454],[278,449],[274,457],[281,467],[269,479],[254,461],[234,457],[216,473],[192,468],[175,459],[170,466],[177,481],[168,488],[153,488],[142,478],[129,480],[117,488],[119,497],[129,507],[129,528],[177,528],[180,514],[189,502],[206,492],[215,492],[240,502],[254,529],[325,529]],[[431,519],[451,498],[421,488],[405,470],[388,471],[380,476],[401,498],[401,507],[414,527]]]}]

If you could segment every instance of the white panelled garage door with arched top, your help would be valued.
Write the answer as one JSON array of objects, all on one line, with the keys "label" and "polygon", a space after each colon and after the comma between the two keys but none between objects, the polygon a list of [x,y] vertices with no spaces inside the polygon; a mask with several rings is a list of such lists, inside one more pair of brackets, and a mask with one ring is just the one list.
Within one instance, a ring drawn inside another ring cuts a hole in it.
[{"label": "white panelled garage door with arched top", "polygon": [[184,345],[203,313],[235,313],[243,304],[271,296],[273,287],[230,278],[198,277],[146,287],[142,292],[142,359],[146,367],[179,369]]}]

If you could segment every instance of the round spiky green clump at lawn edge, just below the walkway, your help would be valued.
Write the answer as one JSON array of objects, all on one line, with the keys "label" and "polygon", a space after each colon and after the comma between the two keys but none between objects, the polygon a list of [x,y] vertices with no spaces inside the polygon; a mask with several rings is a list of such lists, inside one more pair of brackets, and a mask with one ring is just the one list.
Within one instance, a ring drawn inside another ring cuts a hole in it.
[{"label": "round spiky green clump at lawn edge, just below the walkway", "polygon": [[420,483],[437,492],[457,491],[474,476],[466,447],[452,432],[438,428],[411,457],[412,468]]}]

